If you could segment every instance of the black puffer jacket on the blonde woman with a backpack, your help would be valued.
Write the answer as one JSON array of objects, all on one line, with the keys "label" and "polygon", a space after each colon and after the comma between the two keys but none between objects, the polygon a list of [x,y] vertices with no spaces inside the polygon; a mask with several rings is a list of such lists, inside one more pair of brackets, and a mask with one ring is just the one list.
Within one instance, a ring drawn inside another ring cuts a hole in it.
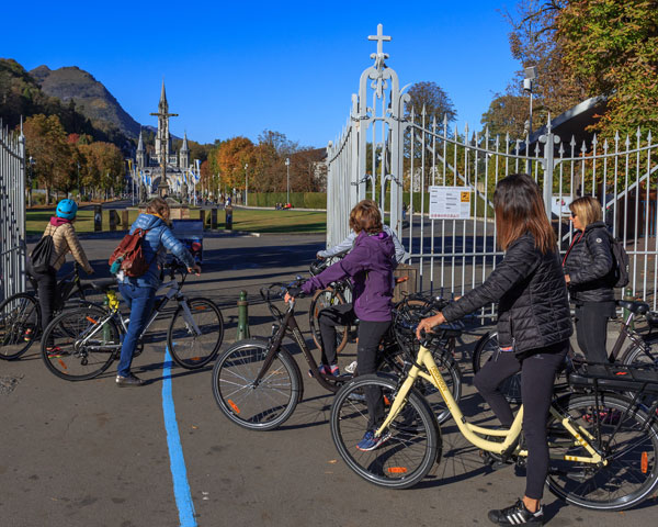
[{"label": "black puffer jacket on the blonde woman with a backpack", "polygon": [[610,235],[603,222],[590,223],[585,233],[577,232],[565,258],[569,274],[569,294],[576,303],[614,300]]}]

